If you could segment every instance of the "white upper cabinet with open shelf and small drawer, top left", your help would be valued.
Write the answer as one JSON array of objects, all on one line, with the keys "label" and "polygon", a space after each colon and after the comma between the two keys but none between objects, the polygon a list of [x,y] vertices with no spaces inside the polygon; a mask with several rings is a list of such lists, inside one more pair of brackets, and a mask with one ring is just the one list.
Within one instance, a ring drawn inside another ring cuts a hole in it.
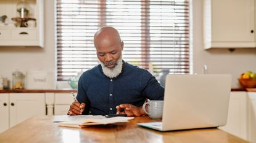
[{"label": "white upper cabinet with open shelf and small drawer, top left", "polygon": [[[28,0],[30,4],[30,18],[36,19],[36,25],[31,27],[20,27],[11,23],[11,18],[19,17],[17,4],[20,0],[1,0],[0,16],[7,15],[6,25],[0,25],[0,46],[1,47],[44,47],[44,21],[43,21],[43,0]],[[27,21],[27,20],[26,20]]]}]

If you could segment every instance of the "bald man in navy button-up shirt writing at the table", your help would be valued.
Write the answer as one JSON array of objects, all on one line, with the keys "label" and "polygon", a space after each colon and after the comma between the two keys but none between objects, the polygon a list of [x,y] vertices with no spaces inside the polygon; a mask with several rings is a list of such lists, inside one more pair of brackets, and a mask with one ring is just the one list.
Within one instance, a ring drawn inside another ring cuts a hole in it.
[{"label": "bald man in navy button-up shirt writing at the table", "polygon": [[78,102],[68,115],[146,115],[146,99],[163,100],[164,88],[146,69],[122,60],[123,41],[115,28],[105,26],[94,34],[100,64],[84,72],[78,81]]}]

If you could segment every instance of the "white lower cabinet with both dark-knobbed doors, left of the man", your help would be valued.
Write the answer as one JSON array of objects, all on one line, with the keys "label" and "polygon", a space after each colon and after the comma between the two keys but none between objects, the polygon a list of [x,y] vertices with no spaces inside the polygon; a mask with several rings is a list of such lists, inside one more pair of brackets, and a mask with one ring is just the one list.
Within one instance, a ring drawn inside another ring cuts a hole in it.
[{"label": "white lower cabinet with both dark-knobbed doors, left of the man", "polygon": [[0,132],[35,115],[46,115],[44,93],[1,93],[0,104]]}]

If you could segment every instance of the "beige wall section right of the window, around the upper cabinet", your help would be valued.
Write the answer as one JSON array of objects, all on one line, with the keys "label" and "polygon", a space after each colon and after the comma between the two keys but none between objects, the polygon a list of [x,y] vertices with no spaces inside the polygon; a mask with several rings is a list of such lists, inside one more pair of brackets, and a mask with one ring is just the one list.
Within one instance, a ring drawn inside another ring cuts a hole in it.
[{"label": "beige wall section right of the window, around the upper cabinet", "polygon": [[226,48],[204,50],[202,4],[203,0],[193,2],[194,73],[202,74],[202,67],[207,64],[209,74],[232,74],[232,87],[240,87],[237,77],[242,72],[256,72],[256,48],[236,48],[234,52],[229,52]]}]

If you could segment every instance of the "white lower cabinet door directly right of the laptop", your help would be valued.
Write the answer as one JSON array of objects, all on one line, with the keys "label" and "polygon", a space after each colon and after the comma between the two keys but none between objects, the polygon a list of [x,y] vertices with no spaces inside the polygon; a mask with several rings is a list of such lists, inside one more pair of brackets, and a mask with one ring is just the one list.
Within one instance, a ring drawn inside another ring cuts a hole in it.
[{"label": "white lower cabinet door directly right of the laptop", "polygon": [[247,139],[246,118],[246,91],[231,92],[228,109],[228,122],[226,126],[220,127],[234,136]]}]

